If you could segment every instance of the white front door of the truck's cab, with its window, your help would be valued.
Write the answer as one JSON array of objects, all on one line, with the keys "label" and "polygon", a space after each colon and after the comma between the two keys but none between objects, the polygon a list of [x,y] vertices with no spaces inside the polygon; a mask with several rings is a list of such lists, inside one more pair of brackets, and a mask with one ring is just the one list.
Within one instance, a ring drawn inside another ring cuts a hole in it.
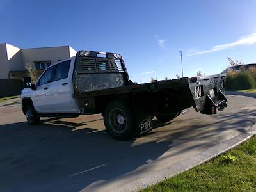
[{"label": "white front door of the truck's cab, with its window", "polygon": [[40,77],[36,84],[36,90],[33,91],[33,104],[38,113],[51,113],[51,101],[49,90],[52,86],[54,67],[49,67]]}]

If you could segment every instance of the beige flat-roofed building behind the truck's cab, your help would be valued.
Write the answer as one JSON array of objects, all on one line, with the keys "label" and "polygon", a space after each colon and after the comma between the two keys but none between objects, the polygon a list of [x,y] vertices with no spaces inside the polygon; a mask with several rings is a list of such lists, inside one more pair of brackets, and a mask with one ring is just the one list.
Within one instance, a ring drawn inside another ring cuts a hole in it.
[{"label": "beige flat-roofed building behind the truck's cab", "polygon": [[20,49],[0,44],[0,97],[20,94],[26,63],[34,65],[40,75],[52,63],[75,55],[70,46]]}]

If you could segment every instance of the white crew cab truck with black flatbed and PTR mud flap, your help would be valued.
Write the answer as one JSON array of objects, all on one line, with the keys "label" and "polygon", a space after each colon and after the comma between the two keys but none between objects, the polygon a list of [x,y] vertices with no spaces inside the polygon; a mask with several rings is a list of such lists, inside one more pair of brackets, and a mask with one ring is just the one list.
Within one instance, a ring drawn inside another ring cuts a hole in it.
[{"label": "white crew cab truck with black flatbed and PTR mud flap", "polygon": [[168,121],[191,106],[204,114],[227,106],[225,74],[134,84],[122,56],[108,52],[79,51],[46,68],[36,84],[26,83],[22,111],[30,125],[38,124],[40,116],[102,113],[116,140],[151,131],[154,116]]}]

